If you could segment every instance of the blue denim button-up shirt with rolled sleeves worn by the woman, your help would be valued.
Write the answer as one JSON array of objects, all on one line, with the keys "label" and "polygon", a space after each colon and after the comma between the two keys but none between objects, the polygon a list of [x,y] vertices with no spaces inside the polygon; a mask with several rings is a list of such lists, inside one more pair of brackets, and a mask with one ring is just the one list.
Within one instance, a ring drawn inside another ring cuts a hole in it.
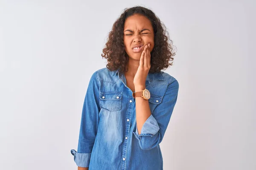
[{"label": "blue denim button-up shirt with rolled sleeves worn by the woman", "polygon": [[163,170],[160,142],[177,101],[179,84],[169,74],[148,73],[151,116],[139,135],[136,103],[124,74],[101,68],[93,73],[84,98],[74,161],[89,170]]}]

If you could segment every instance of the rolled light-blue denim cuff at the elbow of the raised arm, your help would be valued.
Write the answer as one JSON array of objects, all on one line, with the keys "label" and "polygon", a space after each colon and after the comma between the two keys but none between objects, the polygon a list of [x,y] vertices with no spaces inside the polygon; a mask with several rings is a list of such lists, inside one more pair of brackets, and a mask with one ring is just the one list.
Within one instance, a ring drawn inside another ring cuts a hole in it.
[{"label": "rolled light-blue denim cuff at the elbow of the raised arm", "polygon": [[146,120],[146,122],[143,124],[140,135],[138,133],[137,125],[136,125],[136,132],[135,133],[133,132],[133,133],[137,139],[141,140],[141,136],[153,137],[158,132],[158,130],[160,130],[160,128],[158,126],[157,120],[151,114]]}]

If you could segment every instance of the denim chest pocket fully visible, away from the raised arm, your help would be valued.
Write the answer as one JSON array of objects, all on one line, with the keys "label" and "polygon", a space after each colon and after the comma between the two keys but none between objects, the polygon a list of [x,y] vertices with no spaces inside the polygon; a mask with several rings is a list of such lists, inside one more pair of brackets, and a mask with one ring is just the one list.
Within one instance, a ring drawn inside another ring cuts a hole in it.
[{"label": "denim chest pocket fully visible, away from the raised arm", "polygon": [[118,111],[121,109],[122,92],[102,91],[99,92],[100,108],[107,111]]}]

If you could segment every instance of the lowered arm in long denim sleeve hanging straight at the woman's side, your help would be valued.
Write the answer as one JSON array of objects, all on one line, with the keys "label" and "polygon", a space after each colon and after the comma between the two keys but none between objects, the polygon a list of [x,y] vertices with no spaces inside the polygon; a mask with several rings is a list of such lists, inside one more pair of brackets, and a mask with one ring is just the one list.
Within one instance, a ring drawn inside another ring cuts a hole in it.
[{"label": "lowered arm in long denim sleeve hanging straight at the woman's side", "polygon": [[81,113],[81,124],[79,131],[78,149],[71,150],[74,161],[79,170],[89,167],[90,155],[93,149],[99,123],[99,85],[97,72],[90,78],[87,92],[84,98],[84,105]]}]

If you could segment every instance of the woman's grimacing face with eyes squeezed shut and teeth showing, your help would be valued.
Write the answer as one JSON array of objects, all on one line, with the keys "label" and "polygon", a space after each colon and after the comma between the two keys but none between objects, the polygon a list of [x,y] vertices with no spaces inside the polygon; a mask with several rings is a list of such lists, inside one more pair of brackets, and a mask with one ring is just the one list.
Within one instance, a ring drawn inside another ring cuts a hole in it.
[{"label": "woman's grimacing face with eyes squeezed shut and teeth showing", "polygon": [[[140,61],[145,45],[150,43],[150,52],[154,48],[154,30],[147,17],[134,14],[125,20],[124,24],[124,45],[125,52],[132,59]],[[142,45],[138,49],[134,46]]]}]

